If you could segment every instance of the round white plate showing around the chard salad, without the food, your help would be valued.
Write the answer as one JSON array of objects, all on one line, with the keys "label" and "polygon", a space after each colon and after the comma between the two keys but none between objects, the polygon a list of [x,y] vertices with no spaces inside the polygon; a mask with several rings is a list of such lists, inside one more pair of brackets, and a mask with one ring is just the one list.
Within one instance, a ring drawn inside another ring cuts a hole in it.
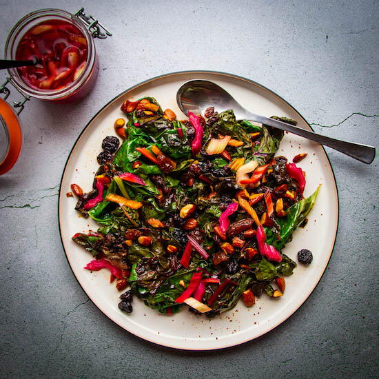
[{"label": "round white plate showing around the chard salad, without the food", "polygon": [[294,134],[285,134],[278,155],[291,160],[300,152],[307,152],[304,161],[298,163],[307,172],[305,196],[309,196],[318,184],[322,184],[314,209],[309,214],[305,229],[298,229],[294,240],[285,247],[285,254],[296,259],[299,249],[310,249],[314,260],[308,267],[298,265],[294,274],[286,278],[285,296],[277,299],[261,296],[256,305],[246,308],[242,302],[232,311],[208,319],[198,317],[183,309],[174,316],[158,314],[135,298],[134,311],[128,315],[119,311],[119,292],[109,283],[109,272],[89,272],[83,267],[92,256],[71,240],[76,232],[96,230],[92,220],[81,218],[74,210],[75,198],[67,198],[70,184],[79,184],[84,191],[91,189],[97,170],[96,155],[101,151],[101,141],[114,134],[113,123],[123,117],[120,107],[124,99],[154,96],[163,109],[170,107],[178,115],[183,114],[176,105],[176,91],[185,81],[208,79],[225,88],[234,98],[264,116],[287,116],[298,121],[298,126],[311,130],[307,122],[291,105],[262,85],[231,74],[220,72],[177,72],[150,79],[135,85],[105,105],[85,127],[65,165],[59,194],[59,226],[65,254],[85,293],[111,320],[130,333],[159,345],[188,350],[210,350],[230,347],[252,340],[267,333],[302,305],[316,287],[327,267],[336,238],[338,225],[338,194],[329,160],[317,143]]}]

